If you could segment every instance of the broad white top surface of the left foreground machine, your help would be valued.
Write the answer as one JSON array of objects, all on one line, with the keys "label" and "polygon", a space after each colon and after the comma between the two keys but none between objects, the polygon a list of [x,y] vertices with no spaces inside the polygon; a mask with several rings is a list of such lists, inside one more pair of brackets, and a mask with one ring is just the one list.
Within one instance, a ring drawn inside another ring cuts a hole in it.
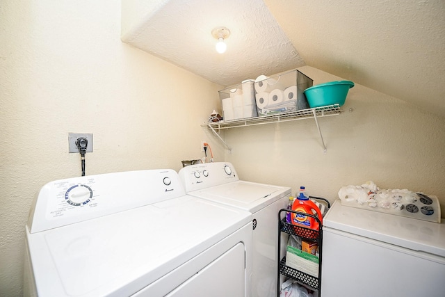
[{"label": "broad white top surface of the left foreground machine", "polygon": [[129,296],[251,220],[184,195],[26,236],[40,296]]}]

